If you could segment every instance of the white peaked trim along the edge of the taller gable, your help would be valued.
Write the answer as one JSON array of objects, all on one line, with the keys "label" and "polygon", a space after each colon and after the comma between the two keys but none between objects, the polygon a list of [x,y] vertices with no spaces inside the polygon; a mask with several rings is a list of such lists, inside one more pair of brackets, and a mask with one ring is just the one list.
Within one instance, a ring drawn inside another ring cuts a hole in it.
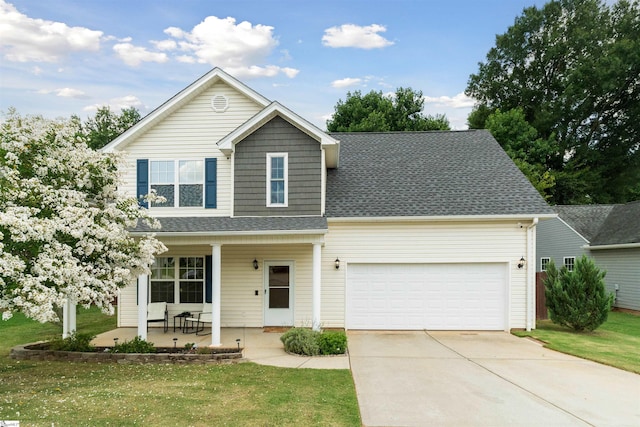
[{"label": "white peaked trim along the edge of the taller gable", "polygon": [[122,135],[111,141],[104,148],[102,148],[102,151],[110,152],[116,149],[122,150],[129,142],[147,132],[167,116],[177,111],[179,108],[196,98],[199,94],[203,93],[212,85],[220,81],[237,90],[262,107],[267,106],[270,103],[267,98],[260,95],[259,93],[249,88],[247,85],[235,79],[234,77],[230,76],[229,74],[225,73],[220,68],[214,68],[207,74],[187,86],[185,89],[178,92],[164,104],[153,110]]}]

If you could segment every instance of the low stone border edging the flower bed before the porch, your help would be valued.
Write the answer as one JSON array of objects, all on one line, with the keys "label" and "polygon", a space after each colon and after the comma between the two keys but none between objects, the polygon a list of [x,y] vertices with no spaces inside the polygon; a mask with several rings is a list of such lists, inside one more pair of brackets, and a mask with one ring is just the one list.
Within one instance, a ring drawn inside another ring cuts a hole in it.
[{"label": "low stone border edging the flower bed before the porch", "polygon": [[[222,351],[211,354],[198,353],[109,353],[104,351],[80,352],[49,350],[48,342],[36,342],[18,345],[11,349],[9,357],[14,360],[57,360],[66,362],[98,362],[98,363],[196,363],[196,364],[231,364],[246,361],[242,357],[242,349],[215,349]],[[226,351],[228,350],[228,352]]]}]

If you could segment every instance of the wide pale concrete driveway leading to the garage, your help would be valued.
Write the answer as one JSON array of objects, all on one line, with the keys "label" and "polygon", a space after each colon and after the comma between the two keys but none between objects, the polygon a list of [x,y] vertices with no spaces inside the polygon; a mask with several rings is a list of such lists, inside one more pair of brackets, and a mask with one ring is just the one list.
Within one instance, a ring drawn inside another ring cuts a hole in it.
[{"label": "wide pale concrete driveway leading to the garage", "polygon": [[365,426],[640,426],[640,375],[504,332],[350,331]]}]

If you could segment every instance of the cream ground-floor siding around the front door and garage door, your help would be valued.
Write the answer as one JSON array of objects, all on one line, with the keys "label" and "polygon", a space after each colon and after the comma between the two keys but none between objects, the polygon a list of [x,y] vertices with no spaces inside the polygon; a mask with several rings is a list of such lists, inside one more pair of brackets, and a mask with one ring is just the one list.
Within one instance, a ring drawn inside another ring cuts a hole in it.
[{"label": "cream ground-floor siding around the front door and garage door", "polygon": [[[162,256],[204,256],[211,243],[222,244],[221,326],[261,327],[264,307],[264,261],[295,262],[294,319],[309,326],[312,315],[312,242],[291,244],[284,235],[237,236],[213,239],[184,237],[165,239]],[[338,222],[329,219],[321,261],[321,322],[325,328],[345,326],[346,275],[351,263],[500,263],[507,266],[509,282],[507,328],[526,327],[526,276],[530,268],[517,268],[526,251],[526,228],[517,221],[487,222]],[[181,246],[184,245],[184,246]],[[259,262],[254,270],[253,260]],[[340,259],[336,270],[335,260]],[[533,267],[533,263],[531,264]],[[137,325],[136,286],[122,291],[120,326]],[[258,295],[255,292],[258,291]],[[175,314],[196,310],[190,305],[169,304],[170,324]]]}]

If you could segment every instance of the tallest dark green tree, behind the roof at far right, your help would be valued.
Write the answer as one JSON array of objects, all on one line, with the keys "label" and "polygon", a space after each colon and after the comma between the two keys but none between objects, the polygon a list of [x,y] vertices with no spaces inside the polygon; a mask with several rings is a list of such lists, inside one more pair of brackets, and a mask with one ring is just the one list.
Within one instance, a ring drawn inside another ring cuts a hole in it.
[{"label": "tallest dark green tree, behind the roof at far right", "polygon": [[[469,118],[522,108],[554,138],[556,203],[616,203],[640,188],[640,3],[553,0],[530,7],[472,74]],[[528,161],[529,163],[533,163]]]}]

